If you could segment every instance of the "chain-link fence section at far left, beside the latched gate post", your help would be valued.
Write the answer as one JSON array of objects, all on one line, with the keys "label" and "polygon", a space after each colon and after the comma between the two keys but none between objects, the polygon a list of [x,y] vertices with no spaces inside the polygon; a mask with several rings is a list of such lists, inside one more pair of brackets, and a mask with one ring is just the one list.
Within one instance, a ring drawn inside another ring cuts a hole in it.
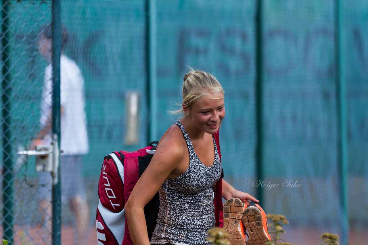
[{"label": "chain-link fence section at far left, beside the latched gate post", "polygon": [[[29,149],[40,130],[40,104],[47,61],[39,54],[39,32],[51,23],[51,1],[1,1],[1,237],[11,244],[50,244],[50,202]],[[48,127],[50,128],[50,127]],[[51,134],[51,131],[47,131]]]}]

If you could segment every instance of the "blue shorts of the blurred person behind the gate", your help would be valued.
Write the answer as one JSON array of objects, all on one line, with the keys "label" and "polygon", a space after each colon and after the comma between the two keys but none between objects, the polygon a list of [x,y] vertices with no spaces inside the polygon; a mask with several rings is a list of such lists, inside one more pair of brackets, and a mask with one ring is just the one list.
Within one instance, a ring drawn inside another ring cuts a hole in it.
[{"label": "blue shorts of the blurred person behind the gate", "polygon": [[[82,178],[82,155],[61,155],[61,202],[70,202],[79,196],[86,198]],[[51,201],[52,177],[50,172],[39,173],[39,194],[41,199]]]}]

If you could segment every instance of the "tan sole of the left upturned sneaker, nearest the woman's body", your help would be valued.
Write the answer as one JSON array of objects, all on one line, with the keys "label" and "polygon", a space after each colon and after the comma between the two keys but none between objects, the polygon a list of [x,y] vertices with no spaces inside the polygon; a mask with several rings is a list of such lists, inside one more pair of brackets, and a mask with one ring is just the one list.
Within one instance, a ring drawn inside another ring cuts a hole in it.
[{"label": "tan sole of the left upturned sneaker, nearest the woman's body", "polygon": [[241,218],[243,217],[243,202],[239,198],[230,198],[224,203],[223,217],[226,233],[229,234],[231,245],[244,245],[243,233],[240,229]]}]

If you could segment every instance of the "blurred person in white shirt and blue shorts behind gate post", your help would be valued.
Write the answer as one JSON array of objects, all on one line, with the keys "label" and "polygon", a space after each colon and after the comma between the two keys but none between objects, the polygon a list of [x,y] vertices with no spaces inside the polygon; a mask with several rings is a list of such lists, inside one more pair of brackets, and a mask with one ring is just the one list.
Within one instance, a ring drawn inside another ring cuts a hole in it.
[{"label": "blurred person in white shirt and blue shorts behind gate post", "polygon": [[[68,203],[77,226],[75,244],[85,244],[89,226],[89,209],[82,178],[82,155],[88,153],[88,136],[86,126],[84,80],[81,70],[73,60],[64,54],[68,41],[68,32],[61,26],[60,58],[60,131],[61,131],[61,201]],[[52,123],[52,25],[41,28],[38,39],[40,54],[49,62],[45,69],[45,81],[42,91],[41,118],[42,130],[38,141],[33,145],[51,142]],[[42,140],[41,140],[42,139]],[[32,147],[33,148],[33,147]],[[51,191],[47,184],[52,183],[49,172],[40,173],[40,206],[46,228],[51,229]],[[50,185],[48,185],[50,186]],[[48,221],[46,221],[48,220]]]}]

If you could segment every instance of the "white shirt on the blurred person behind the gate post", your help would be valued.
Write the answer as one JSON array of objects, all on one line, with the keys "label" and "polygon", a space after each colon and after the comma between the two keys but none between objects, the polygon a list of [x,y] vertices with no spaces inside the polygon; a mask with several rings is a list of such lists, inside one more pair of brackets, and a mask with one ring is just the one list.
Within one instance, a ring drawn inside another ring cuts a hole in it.
[{"label": "white shirt on the blurred person behind the gate post", "polygon": [[[40,123],[46,125],[52,111],[52,64],[45,69]],[[88,152],[86,114],[84,111],[84,80],[77,64],[65,55],[60,58],[60,118],[61,145],[64,155],[82,155]]]}]

